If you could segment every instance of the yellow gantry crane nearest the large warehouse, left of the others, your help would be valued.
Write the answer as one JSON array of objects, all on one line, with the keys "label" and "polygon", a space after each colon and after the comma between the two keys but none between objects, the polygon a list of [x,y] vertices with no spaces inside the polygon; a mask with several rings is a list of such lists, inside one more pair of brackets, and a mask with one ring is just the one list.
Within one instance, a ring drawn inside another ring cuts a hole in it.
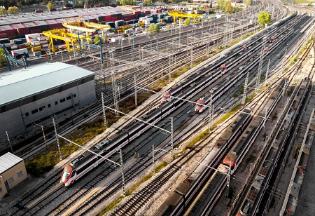
[{"label": "yellow gantry crane nearest the large warehouse, left of the others", "polygon": [[[73,51],[70,48],[70,43],[72,46],[75,46],[78,42],[78,34],[71,34],[67,29],[54,29],[50,31],[43,32],[43,35],[47,36],[47,40],[49,41],[49,46],[53,53],[55,53],[56,49],[54,47],[54,39],[62,40],[66,42],[66,48],[69,52]],[[80,36],[80,40],[90,40],[90,36]]]}]

